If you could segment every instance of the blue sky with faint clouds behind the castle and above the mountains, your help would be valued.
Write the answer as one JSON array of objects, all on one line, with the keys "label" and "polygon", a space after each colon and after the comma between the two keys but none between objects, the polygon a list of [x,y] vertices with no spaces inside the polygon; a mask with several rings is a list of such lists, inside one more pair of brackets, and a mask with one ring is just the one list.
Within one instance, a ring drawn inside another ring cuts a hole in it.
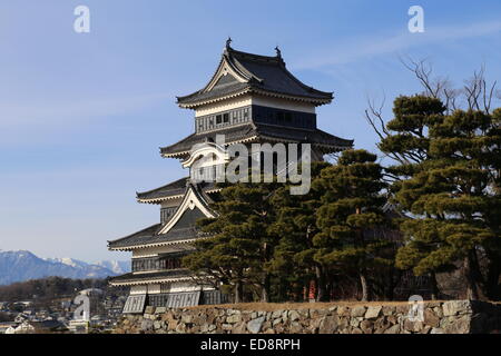
[{"label": "blue sky with faint clouds behind the castle and above the mountains", "polygon": [[[90,33],[73,10],[90,9]],[[407,9],[424,9],[410,33]],[[501,80],[501,2],[0,1],[0,249],[88,261],[127,258],[106,241],[159,219],[135,191],[184,176],[158,147],[193,130],[175,96],[202,88],[228,36],[335,92],[318,125],[374,150],[367,96],[420,90],[400,56],[429,58],[460,86],[482,63]],[[389,116],[390,117],[390,116]]]}]

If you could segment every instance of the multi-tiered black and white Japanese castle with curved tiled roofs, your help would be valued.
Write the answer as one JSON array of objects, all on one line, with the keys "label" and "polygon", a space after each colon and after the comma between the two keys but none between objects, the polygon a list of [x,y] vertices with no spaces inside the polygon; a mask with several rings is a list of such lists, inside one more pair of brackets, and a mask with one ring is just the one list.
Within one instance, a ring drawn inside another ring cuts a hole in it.
[{"label": "multi-tiered black and white Japanese castle with curved tiled roofs", "polygon": [[[311,144],[313,160],[353,146],[352,140],[316,126],[315,108],[330,103],[333,93],[301,82],[286,69],[281,50],[275,50],[273,57],[246,53],[233,49],[228,39],[206,87],[177,98],[180,108],[194,110],[195,132],[160,148],[160,155],[179,159],[189,175],[138,192],[139,202],[160,207],[160,221],[108,241],[110,250],[132,253],[131,273],[110,280],[112,286],[130,287],[124,313],[143,313],[148,305],[185,307],[227,301],[214,286],[196,283],[199,279],[180,264],[194,249],[195,240],[208,238],[197,230],[196,220],[217,215],[210,202],[218,188],[199,179],[227,162],[212,144],[216,135],[225,135],[225,148],[253,142]],[[195,149],[197,144],[207,145]],[[207,160],[208,155],[216,158]],[[203,158],[204,164],[196,165]]]}]

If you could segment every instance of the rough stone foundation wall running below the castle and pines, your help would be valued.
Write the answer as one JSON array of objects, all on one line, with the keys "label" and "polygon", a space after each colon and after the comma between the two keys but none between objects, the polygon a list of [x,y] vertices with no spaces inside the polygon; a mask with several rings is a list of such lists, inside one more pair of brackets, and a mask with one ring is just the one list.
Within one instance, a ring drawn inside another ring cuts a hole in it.
[{"label": "rough stone foundation wall running below the castle and pines", "polygon": [[[478,334],[501,329],[501,305],[425,301],[422,318],[404,303],[286,305],[273,312],[238,305],[166,309],[121,318],[116,334]],[[268,305],[273,306],[273,305]],[[299,307],[301,306],[301,307]],[[277,305],[275,307],[281,307]],[[266,308],[262,308],[266,309]],[[268,308],[269,309],[269,308]]]}]

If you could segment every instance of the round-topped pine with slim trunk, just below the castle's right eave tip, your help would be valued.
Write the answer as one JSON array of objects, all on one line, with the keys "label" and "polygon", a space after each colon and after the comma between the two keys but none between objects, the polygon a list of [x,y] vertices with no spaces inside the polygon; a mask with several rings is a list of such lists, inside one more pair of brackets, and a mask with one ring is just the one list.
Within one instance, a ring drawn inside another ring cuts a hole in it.
[{"label": "round-topped pine with slim trunk, just below the castle's right eave tip", "polygon": [[323,191],[316,211],[318,233],[313,238],[313,259],[324,268],[354,270],[362,286],[362,300],[369,299],[369,270],[391,264],[383,257],[389,243],[381,236],[367,234],[385,226],[381,195],[382,167],[376,156],[365,150],[343,151],[337,165],[328,167],[312,187]]}]

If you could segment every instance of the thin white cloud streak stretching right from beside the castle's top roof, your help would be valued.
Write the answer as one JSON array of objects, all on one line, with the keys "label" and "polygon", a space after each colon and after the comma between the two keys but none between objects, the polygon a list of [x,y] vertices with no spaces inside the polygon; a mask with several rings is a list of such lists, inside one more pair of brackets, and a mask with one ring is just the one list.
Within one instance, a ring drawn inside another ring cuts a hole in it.
[{"label": "thin white cloud streak stretching right from beside the castle's top roof", "polygon": [[360,59],[400,52],[410,48],[501,33],[501,21],[487,21],[454,27],[426,27],[424,33],[401,32],[396,36],[351,38],[332,43],[331,49],[294,63],[294,69],[318,69]]}]

